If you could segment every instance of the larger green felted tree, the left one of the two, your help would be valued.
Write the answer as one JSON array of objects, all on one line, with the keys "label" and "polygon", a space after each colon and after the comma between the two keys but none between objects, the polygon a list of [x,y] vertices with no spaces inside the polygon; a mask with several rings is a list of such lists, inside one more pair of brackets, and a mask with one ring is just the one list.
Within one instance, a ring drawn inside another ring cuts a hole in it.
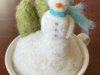
[{"label": "larger green felted tree, the left one of the two", "polygon": [[30,0],[22,0],[17,6],[16,20],[21,36],[27,36],[40,29],[39,17]]}]

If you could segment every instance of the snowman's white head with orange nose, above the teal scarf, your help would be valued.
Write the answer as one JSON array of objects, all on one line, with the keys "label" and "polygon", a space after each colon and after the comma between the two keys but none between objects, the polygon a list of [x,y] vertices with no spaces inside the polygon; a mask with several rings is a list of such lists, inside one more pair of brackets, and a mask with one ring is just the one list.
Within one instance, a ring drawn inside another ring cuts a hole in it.
[{"label": "snowman's white head with orange nose, above the teal scarf", "polygon": [[74,0],[47,0],[50,9],[60,12],[66,11]]}]

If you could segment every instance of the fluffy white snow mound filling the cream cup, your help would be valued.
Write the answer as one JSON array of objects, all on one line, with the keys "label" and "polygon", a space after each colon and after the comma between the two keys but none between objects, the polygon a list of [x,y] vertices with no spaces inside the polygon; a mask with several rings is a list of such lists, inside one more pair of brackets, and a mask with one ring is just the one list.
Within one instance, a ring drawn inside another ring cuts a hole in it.
[{"label": "fluffy white snow mound filling the cream cup", "polygon": [[82,54],[76,40],[47,40],[43,35],[38,31],[17,42],[12,57],[17,75],[77,75]]}]

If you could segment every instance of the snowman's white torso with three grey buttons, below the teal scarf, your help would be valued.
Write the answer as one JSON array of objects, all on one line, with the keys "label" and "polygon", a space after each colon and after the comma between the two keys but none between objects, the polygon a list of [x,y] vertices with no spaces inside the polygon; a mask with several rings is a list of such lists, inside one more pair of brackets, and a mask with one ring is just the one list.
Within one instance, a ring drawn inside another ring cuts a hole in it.
[{"label": "snowman's white torso with three grey buttons, below the teal scarf", "polygon": [[47,11],[42,17],[41,30],[50,38],[66,38],[69,27],[69,16],[57,17]]}]

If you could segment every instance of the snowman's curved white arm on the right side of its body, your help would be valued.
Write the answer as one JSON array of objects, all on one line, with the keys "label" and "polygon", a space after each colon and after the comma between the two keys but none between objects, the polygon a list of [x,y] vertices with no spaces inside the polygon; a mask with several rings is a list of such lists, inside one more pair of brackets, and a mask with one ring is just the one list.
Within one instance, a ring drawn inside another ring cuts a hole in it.
[{"label": "snowman's curved white arm on the right side of its body", "polygon": [[71,16],[69,16],[68,20],[69,20],[69,28],[68,28],[67,35],[66,35],[67,39],[73,34],[74,27],[75,27],[74,20]]}]

